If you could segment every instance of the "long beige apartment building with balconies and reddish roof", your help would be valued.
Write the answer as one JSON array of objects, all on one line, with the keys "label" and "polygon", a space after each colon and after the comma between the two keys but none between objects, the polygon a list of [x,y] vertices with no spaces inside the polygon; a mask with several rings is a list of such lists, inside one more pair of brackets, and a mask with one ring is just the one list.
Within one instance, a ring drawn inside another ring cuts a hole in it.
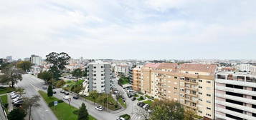
[{"label": "long beige apartment building with balconies and reddish roof", "polygon": [[[141,92],[179,101],[204,119],[214,119],[214,74],[217,65],[149,63],[141,68]],[[135,79],[134,79],[135,80]]]}]

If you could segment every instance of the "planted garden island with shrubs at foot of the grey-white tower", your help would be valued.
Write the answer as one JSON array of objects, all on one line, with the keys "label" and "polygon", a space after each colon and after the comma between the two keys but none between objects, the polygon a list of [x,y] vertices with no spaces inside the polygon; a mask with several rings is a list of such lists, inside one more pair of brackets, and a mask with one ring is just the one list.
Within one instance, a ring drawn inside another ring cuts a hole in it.
[{"label": "planted garden island with shrubs at foot of the grey-white tower", "polygon": [[96,91],[91,91],[89,96],[86,96],[85,99],[93,101],[113,111],[121,108],[110,94],[98,94]]}]

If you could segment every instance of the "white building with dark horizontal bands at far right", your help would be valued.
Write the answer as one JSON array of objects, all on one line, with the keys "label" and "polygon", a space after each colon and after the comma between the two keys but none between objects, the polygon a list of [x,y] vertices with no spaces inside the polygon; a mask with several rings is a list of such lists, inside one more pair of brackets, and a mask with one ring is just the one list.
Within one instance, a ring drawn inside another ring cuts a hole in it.
[{"label": "white building with dark horizontal bands at far right", "polygon": [[255,120],[256,75],[219,71],[215,78],[215,118]]}]

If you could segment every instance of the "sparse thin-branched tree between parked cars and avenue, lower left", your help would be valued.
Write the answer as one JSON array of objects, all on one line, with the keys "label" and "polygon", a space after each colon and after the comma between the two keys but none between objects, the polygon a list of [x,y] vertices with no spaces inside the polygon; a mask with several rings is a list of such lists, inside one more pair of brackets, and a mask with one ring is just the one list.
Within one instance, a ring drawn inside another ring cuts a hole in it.
[{"label": "sparse thin-branched tree between parked cars and avenue, lower left", "polygon": [[29,109],[29,120],[31,117],[32,107],[40,106],[40,104],[38,103],[39,101],[40,101],[40,96],[37,96],[37,95],[32,96],[32,98],[24,98],[24,103],[22,107],[26,109],[26,111],[27,109]]}]

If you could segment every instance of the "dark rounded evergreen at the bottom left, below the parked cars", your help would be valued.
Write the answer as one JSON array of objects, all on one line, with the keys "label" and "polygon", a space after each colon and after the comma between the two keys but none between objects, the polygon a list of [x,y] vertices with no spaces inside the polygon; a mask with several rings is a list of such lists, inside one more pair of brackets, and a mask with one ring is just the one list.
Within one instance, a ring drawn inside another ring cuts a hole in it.
[{"label": "dark rounded evergreen at the bottom left, below the parked cars", "polygon": [[26,111],[24,111],[24,109],[16,108],[16,109],[13,109],[8,114],[8,119],[9,120],[24,120],[25,116],[26,116]]}]

